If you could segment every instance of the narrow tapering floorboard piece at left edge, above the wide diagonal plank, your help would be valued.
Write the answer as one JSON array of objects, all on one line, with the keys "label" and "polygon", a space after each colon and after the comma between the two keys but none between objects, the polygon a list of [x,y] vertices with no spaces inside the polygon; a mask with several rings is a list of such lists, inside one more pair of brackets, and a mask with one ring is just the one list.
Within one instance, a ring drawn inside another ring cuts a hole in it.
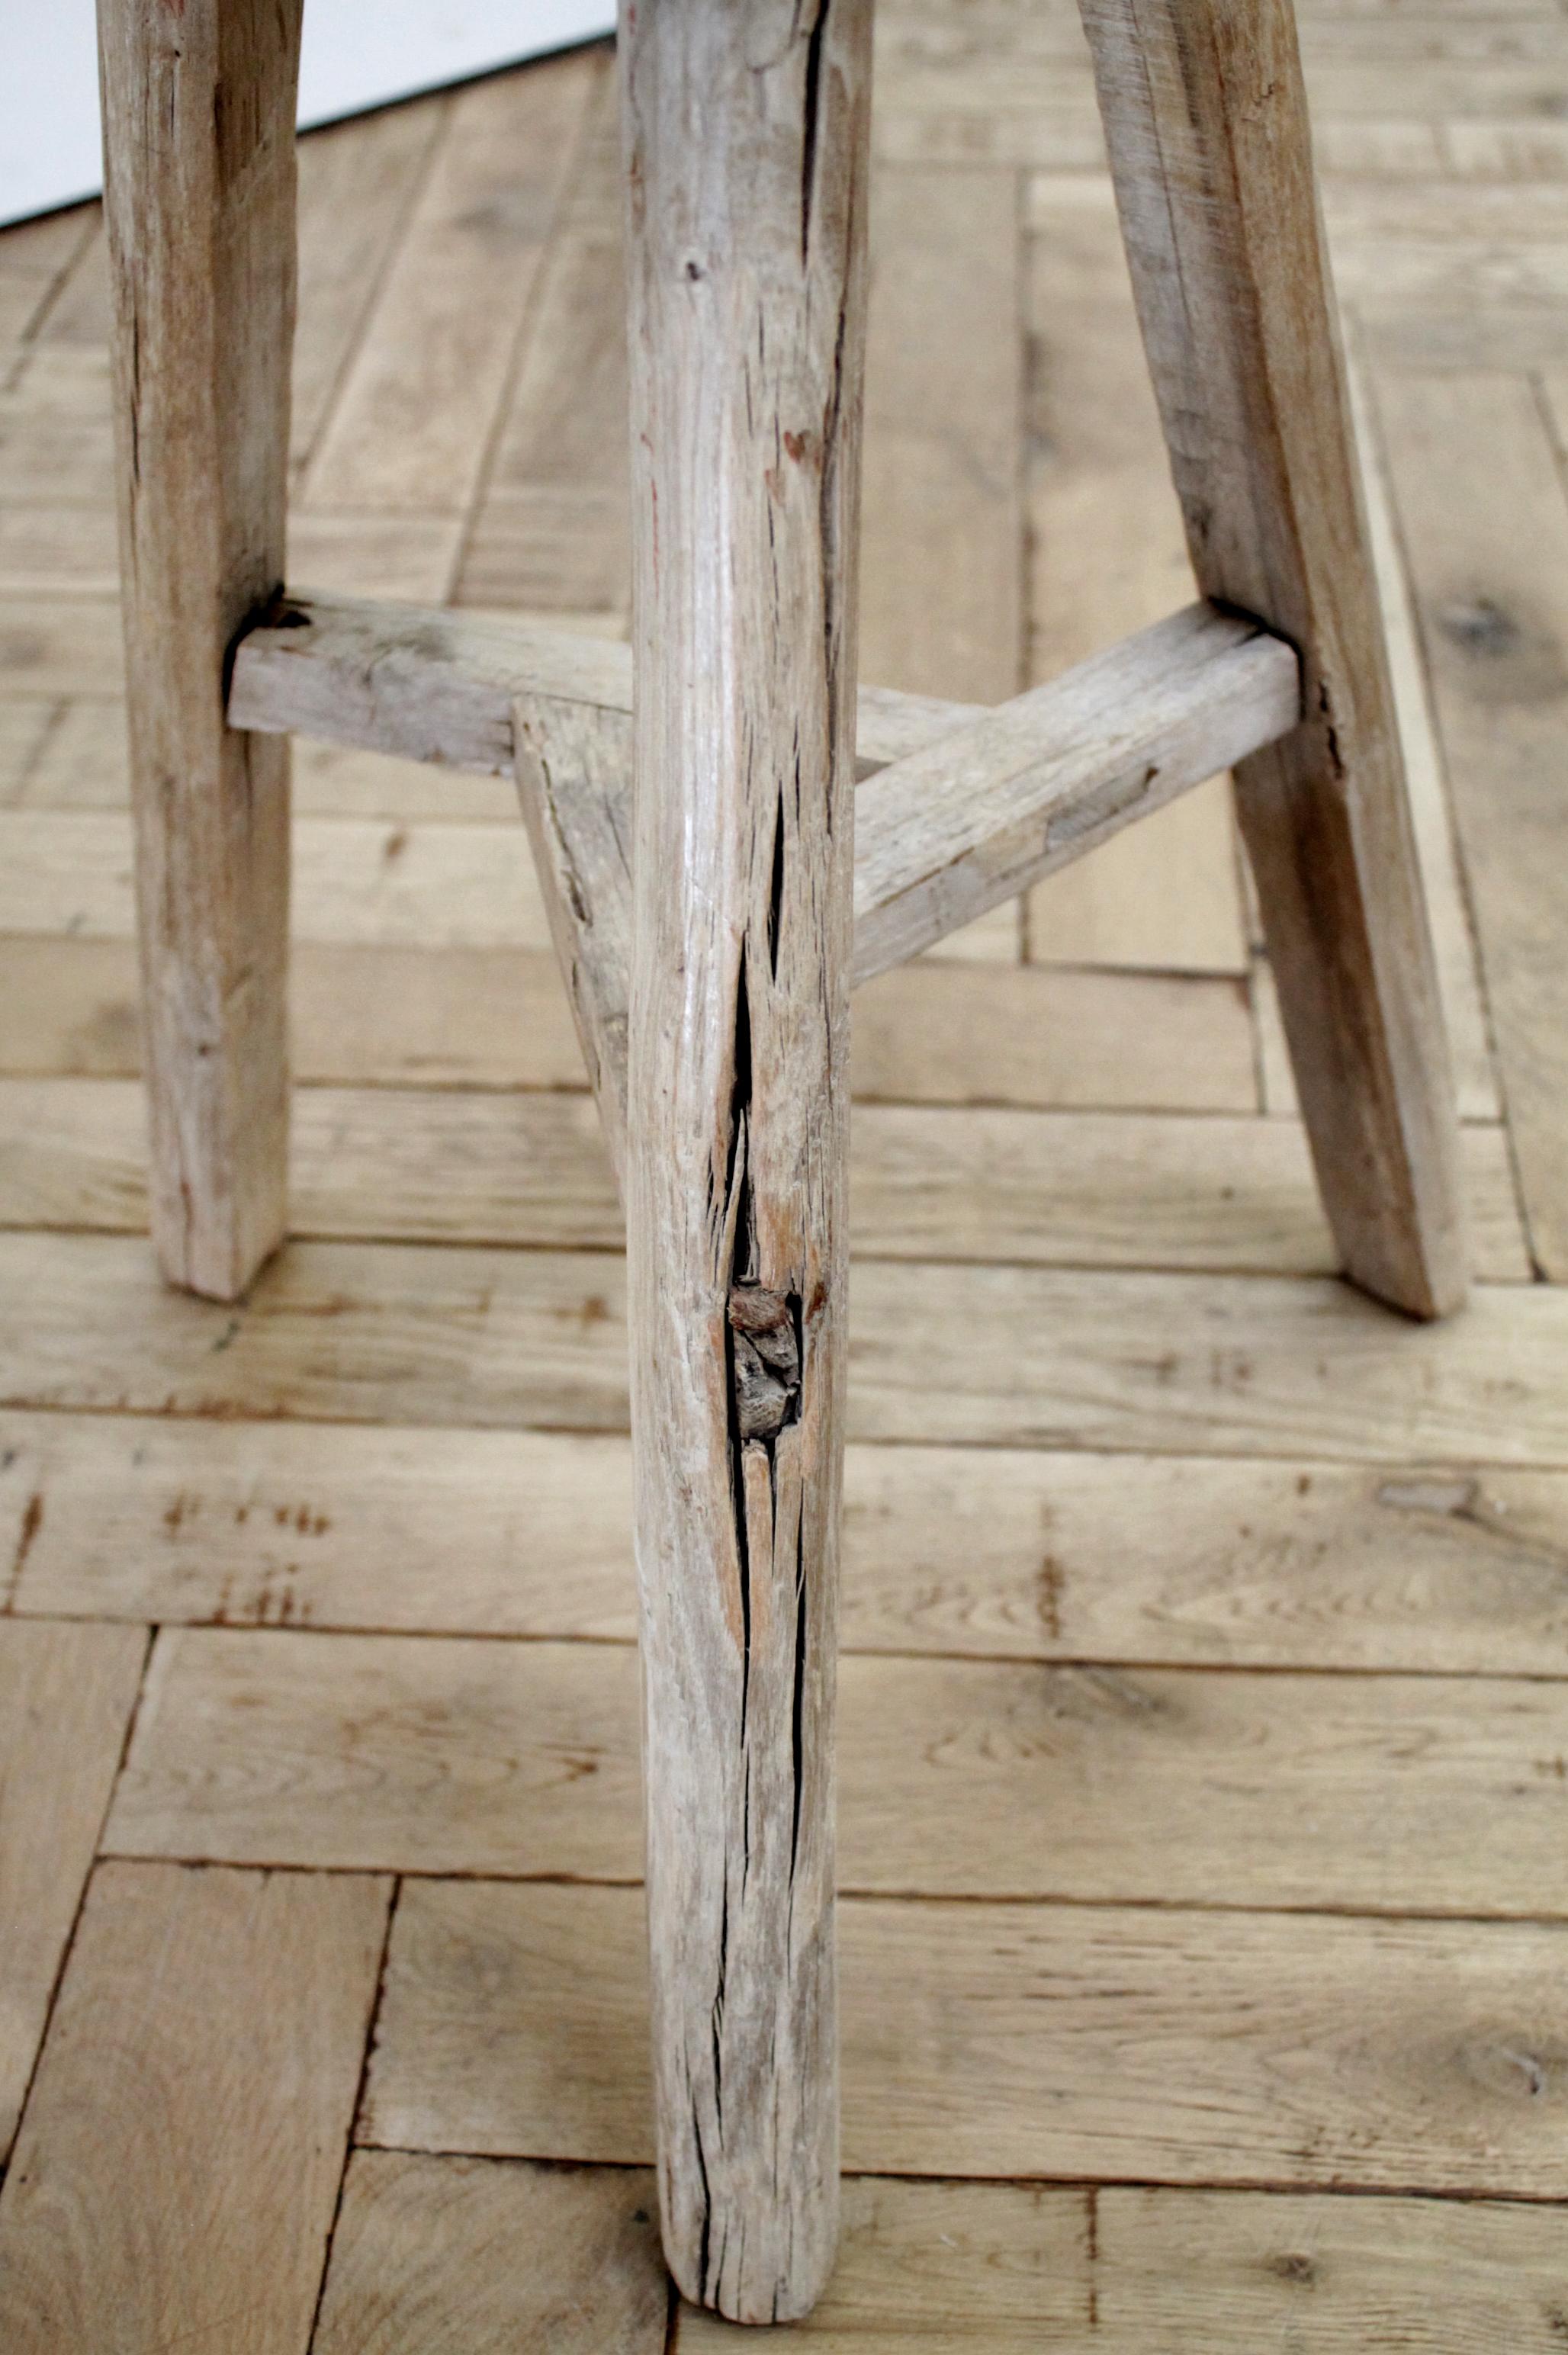
[{"label": "narrow tapering floorboard piece at left edge, above the wide diagonal plank", "polygon": [[[2,1453],[2,1451],[0,1451]],[[16,1571],[45,1502],[16,1495]],[[141,1684],[139,1627],[0,1620],[0,2155],[12,2145],[54,1981],[92,1868]]]}]

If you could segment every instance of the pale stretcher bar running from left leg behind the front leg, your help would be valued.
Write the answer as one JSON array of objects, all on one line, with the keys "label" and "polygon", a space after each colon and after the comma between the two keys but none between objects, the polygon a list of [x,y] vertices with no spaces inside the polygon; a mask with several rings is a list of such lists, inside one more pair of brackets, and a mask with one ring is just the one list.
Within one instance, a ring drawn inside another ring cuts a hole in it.
[{"label": "pale stretcher bar running from left leg behind the front leg", "polygon": [[[509,615],[313,589],[283,596],[240,638],[228,721],[509,777],[513,706],[523,695],[546,706],[631,714],[631,648]],[[979,711],[935,695],[862,688],[859,761],[897,761]],[[624,744],[629,775],[629,735]]]}]

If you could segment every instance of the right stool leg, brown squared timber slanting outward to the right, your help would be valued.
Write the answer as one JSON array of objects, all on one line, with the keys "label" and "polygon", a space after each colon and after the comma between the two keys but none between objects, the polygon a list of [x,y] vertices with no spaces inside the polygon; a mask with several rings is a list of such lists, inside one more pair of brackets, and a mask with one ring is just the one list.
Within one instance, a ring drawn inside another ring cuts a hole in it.
[{"label": "right stool leg, brown squared timber slanting outward to the right", "polygon": [[1347,1272],[1464,1298],[1455,1112],[1290,0],[1083,0],[1165,440],[1205,596],[1302,652],[1302,728],[1236,772]]}]

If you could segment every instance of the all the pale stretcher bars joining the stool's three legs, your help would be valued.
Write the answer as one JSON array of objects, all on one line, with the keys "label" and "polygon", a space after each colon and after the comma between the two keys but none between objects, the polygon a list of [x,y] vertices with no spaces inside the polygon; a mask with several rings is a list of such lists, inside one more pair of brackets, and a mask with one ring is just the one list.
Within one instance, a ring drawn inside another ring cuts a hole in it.
[{"label": "all the pale stretcher bars joining the stool's three legs", "polygon": [[[240,643],[233,718],[485,772],[516,758],[619,1170],[631,970],[626,650],[356,598],[287,610],[308,619]],[[855,980],[935,944],[1281,735],[1297,695],[1283,641],[1205,605],[998,714],[862,690],[862,777],[888,772],[857,794]]]}]

